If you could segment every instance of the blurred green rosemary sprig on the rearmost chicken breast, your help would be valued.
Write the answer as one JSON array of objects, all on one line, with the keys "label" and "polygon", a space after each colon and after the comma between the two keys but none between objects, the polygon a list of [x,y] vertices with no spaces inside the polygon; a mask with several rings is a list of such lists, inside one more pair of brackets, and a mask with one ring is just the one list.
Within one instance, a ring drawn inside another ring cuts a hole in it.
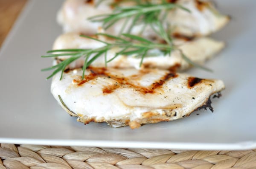
[{"label": "blurred green rosemary sprig on the rearmost chicken breast", "polygon": [[[181,8],[185,11],[189,11],[189,9],[184,8],[176,3],[168,3],[166,0],[162,0],[161,3],[153,3],[153,1],[138,1],[138,0],[130,0],[134,1],[136,5],[128,6],[128,7],[120,7],[119,3],[114,3],[116,8],[113,10],[111,14],[101,14],[93,17],[89,17],[88,20],[92,22],[102,22],[102,26],[105,30],[110,28],[119,20],[125,19],[125,23],[120,29],[119,34],[127,33],[129,34],[134,27],[134,25],[138,23],[144,24],[143,29],[147,25],[154,25],[157,20],[161,20],[163,22],[166,19],[166,12],[172,10],[174,8]],[[161,14],[163,17],[160,18]],[[125,27],[129,24],[126,32],[124,32]]]}]

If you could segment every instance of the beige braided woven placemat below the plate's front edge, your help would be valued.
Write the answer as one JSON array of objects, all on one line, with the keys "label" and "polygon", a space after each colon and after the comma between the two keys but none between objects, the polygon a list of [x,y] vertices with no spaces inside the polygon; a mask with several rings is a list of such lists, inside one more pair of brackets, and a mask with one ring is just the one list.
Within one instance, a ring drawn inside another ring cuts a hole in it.
[{"label": "beige braided woven placemat below the plate's front edge", "polygon": [[0,169],[256,169],[256,150],[0,145]]}]

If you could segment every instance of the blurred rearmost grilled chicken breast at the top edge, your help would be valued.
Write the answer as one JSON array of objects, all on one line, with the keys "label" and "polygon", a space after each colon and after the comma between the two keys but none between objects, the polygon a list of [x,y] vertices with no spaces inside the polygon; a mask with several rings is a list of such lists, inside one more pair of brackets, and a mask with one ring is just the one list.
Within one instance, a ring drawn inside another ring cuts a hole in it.
[{"label": "blurred rearmost grilled chicken breast at the top edge", "polygon": [[[57,21],[63,26],[64,32],[79,32],[83,34],[96,34],[102,23],[91,22],[87,18],[111,14],[113,7],[109,4],[114,0],[105,0],[95,7],[98,0],[66,0],[58,12]],[[176,8],[169,11],[167,22],[174,28],[174,34],[183,34],[190,37],[206,36],[218,31],[229,21],[229,17],[221,15],[214,8],[213,4],[200,0],[172,0],[171,2],[180,4],[191,12]],[[131,6],[131,2],[123,2],[121,6]],[[120,20],[107,30],[109,34],[119,34],[124,20]],[[126,26],[128,29],[129,24]],[[165,25],[165,24],[163,24]],[[131,34],[140,34],[143,24],[134,25]],[[124,30],[125,31],[125,30]],[[143,37],[157,36],[150,26],[143,31]]]}]

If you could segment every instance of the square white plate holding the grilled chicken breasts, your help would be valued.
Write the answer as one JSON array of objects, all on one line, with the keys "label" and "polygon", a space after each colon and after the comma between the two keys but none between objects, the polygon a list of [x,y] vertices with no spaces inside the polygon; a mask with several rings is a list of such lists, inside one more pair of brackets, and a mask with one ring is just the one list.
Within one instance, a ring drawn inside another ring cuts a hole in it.
[{"label": "square white plate holding the grilled chicken breasts", "polygon": [[[207,62],[214,73],[192,69],[202,78],[223,79],[226,90],[212,99],[214,113],[201,110],[172,122],[148,124],[137,130],[86,126],[76,122],[50,93],[51,59],[40,56],[61,34],[55,22],[62,1],[32,0],[23,10],[0,51],[0,143],[79,145],[166,149],[256,148],[256,1],[218,0],[232,16],[212,37],[227,48]],[[199,113],[199,115],[197,115]]]}]

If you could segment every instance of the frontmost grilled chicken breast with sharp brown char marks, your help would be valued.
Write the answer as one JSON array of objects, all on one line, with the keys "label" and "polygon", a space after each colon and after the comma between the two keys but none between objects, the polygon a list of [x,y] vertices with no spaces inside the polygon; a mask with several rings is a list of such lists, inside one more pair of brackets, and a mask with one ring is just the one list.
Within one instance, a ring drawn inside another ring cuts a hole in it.
[{"label": "frontmost grilled chicken breast with sharp brown char marks", "polygon": [[211,107],[210,96],[224,89],[216,79],[199,79],[168,70],[87,68],[61,73],[52,79],[55,99],[70,115],[88,124],[112,127],[172,121]]}]

